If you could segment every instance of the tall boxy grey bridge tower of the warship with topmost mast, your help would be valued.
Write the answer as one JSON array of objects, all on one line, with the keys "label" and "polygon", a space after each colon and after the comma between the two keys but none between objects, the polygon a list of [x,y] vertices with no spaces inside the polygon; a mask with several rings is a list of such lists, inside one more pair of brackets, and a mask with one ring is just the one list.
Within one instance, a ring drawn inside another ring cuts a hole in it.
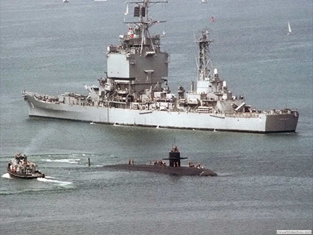
[{"label": "tall boxy grey bridge tower of the warship with topmost mast", "polygon": [[[167,1],[137,1],[135,3],[134,17],[138,21],[125,22],[128,31],[120,35],[121,45],[110,45],[107,48],[107,77],[112,82],[128,81],[129,89],[134,96],[151,87],[156,91],[168,76],[169,55],[161,52],[160,34],[150,35],[149,28],[156,23],[165,21],[152,20],[148,16],[151,4],[167,3]],[[128,7],[127,7],[128,9]]]}]

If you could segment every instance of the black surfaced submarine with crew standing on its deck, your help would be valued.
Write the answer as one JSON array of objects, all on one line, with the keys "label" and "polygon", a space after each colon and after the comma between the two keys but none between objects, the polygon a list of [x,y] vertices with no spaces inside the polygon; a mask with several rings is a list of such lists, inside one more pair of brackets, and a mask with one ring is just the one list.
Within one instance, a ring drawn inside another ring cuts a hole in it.
[{"label": "black surfaced submarine with crew standing on its deck", "polygon": [[132,159],[129,159],[128,164],[107,165],[105,167],[112,170],[146,171],[168,175],[217,176],[217,173],[213,170],[203,168],[201,164],[195,166],[192,162],[189,162],[189,166],[181,166],[181,159],[187,159],[187,157],[182,158],[177,146],[173,146],[169,152],[169,157],[162,159],[169,160],[169,165],[162,160],[154,161],[153,164],[151,162],[150,165],[136,165]]}]

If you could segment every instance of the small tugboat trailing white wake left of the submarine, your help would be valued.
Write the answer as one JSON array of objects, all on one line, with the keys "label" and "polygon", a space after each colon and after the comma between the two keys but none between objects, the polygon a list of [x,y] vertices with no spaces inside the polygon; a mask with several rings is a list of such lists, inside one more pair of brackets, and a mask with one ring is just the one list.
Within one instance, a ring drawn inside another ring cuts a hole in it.
[{"label": "small tugboat trailing white wake left of the submarine", "polygon": [[44,178],[45,175],[36,170],[36,164],[28,161],[25,154],[17,153],[8,163],[8,173],[14,178],[37,179]]}]

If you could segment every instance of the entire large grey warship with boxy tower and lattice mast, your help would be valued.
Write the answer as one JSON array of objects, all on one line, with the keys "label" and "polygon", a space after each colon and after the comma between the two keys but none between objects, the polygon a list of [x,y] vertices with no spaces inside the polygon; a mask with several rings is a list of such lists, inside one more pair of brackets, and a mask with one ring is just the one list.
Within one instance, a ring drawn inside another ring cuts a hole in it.
[{"label": "entire large grey warship with boxy tower and lattice mast", "polygon": [[148,16],[156,3],[167,1],[127,2],[134,5],[136,21],[124,20],[128,30],[119,36],[120,44],[107,47],[107,72],[98,86],[85,86],[86,95],[68,92],[57,97],[22,91],[29,116],[160,128],[295,132],[296,109],[261,111],[246,104],[243,95],[228,90],[212,65],[209,44],[213,40],[207,29],[196,40],[196,86],[192,82],[190,91],[179,86],[176,94],[171,93],[169,55],[160,49],[162,34],[149,32],[154,24],[165,22]]}]

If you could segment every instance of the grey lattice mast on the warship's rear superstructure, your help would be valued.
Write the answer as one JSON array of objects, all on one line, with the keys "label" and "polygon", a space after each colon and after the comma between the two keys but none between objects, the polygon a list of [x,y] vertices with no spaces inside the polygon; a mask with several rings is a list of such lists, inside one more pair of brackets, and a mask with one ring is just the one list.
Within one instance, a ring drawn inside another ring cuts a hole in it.
[{"label": "grey lattice mast on the warship's rear superstructure", "polygon": [[198,66],[198,81],[212,81],[213,79],[213,66],[210,56],[209,44],[213,42],[209,39],[207,29],[202,30],[202,35],[196,43],[199,45],[199,54],[197,60]]}]

